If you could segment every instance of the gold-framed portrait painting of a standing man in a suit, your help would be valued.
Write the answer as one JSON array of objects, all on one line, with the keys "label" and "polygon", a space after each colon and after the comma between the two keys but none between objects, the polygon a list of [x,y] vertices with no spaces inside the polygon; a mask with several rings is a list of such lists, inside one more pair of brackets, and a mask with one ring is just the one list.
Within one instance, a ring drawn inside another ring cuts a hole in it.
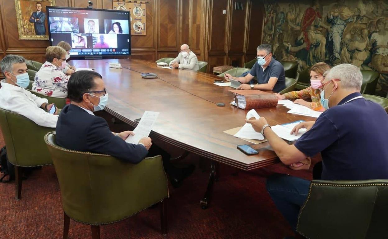
[{"label": "gold-framed portrait painting of a standing man in a suit", "polygon": [[55,6],[55,0],[15,0],[20,40],[49,40],[46,6]]}]

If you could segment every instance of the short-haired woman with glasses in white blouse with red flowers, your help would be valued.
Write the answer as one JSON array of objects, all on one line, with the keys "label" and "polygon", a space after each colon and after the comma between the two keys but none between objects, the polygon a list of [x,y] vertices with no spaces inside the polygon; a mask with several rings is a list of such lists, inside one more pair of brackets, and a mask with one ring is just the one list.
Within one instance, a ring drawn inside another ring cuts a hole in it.
[{"label": "short-haired woman with glasses in white blouse with red flowers", "polygon": [[32,91],[59,98],[68,96],[68,76],[62,72],[66,67],[65,57],[66,51],[62,47],[47,47],[46,62],[36,72]]}]

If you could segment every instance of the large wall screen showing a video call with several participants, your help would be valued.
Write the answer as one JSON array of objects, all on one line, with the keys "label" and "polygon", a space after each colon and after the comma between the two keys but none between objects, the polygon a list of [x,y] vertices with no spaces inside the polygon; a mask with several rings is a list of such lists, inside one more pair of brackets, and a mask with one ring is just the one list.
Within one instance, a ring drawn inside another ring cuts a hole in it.
[{"label": "large wall screen showing a video call with several participants", "polygon": [[130,54],[129,12],[48,9],[51,45],[68,42],[71,56]]}]

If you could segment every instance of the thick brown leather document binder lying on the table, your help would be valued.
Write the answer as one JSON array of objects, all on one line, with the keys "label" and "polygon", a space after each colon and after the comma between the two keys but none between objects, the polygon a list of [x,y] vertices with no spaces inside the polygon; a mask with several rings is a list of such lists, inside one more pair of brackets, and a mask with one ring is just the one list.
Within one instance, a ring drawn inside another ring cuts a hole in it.
[{"label": "thick brown leather document binder lying on the table", "polygon": [[234,96],[233,105],[245,110],[277,106],[277,97],[274,94],[258,89],[239,89],[230,92]]}]

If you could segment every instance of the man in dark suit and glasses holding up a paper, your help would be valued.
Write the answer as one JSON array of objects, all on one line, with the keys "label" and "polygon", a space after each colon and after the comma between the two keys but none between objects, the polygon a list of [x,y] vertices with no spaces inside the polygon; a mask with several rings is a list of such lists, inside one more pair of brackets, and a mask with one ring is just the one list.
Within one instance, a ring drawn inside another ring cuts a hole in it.
[{"label": "man in dark suit and glasses holding up a paper", "polygon": [[[132,131],[111,132],[101,117],[94,115],[102,110],[108,100],[102,76],[90,70],[74,72],[68,81],[70,105],[66,105],[59,115],[56,141],[69,150],[112,155],[128,163],[139,163],[146,156],[161,155],[163,167],[174,187],[194,171],[194,165],[178,169],[171,165],[170,155],[152,145],[151,138],[140,139],[138,144],[129,144],[125,139]],[[151,147],[152,145],[152,147]]]}]

